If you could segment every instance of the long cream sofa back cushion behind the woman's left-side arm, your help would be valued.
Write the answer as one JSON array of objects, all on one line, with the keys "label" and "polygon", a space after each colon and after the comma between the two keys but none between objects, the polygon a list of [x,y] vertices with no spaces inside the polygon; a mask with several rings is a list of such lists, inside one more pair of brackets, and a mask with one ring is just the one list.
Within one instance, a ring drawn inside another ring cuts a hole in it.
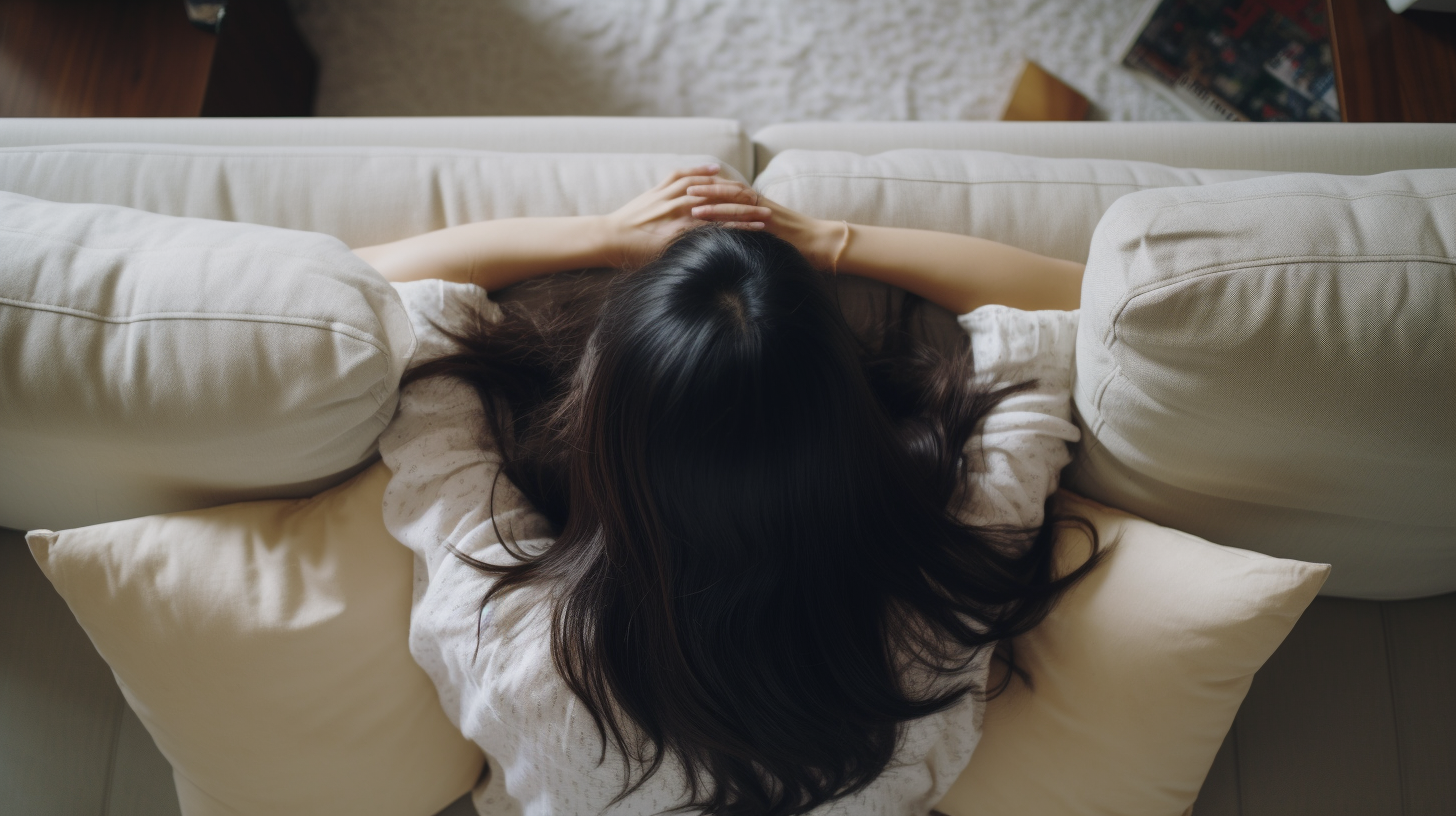
[{"label": "long cream sofa back cushion behind the woman's left-side arm", "polygon": [[702,153],[67,144],[0,149],[0,189],[367,246],[486,219],[610,213]]}]

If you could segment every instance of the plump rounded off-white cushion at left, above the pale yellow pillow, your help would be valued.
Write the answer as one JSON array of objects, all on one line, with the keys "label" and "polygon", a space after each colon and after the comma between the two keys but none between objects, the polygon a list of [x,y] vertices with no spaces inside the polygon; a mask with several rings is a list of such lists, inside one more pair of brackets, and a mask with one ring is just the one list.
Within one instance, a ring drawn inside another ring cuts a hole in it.
[{"label": "plump rounded off-white cushion at left, above the pale yellow pillow", "polygon": [[0,192],[0,526],[317,493],[414,345],[335,238]]}]

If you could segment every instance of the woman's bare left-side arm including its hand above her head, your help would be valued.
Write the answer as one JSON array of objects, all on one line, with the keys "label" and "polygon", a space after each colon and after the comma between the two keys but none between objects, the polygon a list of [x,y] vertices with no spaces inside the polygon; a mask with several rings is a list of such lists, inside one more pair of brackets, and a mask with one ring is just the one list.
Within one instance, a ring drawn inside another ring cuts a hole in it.
[{"label": "woman's bare left-side arm including its hand above her head", "polygon": [[[444,278],[494,291],[565,270],[641,262],[709,220],[763,229],[763,221],[737,220],[748,210],[737,203],[751,200],[753,191],[716,173],[718,165],[677,170],[607,216],[478,221],[354,252],[392,281]],[[711,192],[690,195],[690,187]]]}]

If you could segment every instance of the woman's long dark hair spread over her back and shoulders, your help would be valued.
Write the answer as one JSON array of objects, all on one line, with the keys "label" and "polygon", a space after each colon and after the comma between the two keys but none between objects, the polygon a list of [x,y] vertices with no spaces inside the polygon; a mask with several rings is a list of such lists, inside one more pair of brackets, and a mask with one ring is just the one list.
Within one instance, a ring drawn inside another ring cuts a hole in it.
[{"label": "woman's long dark hair spread over her back and shoulders", "polygon": [[556,669],[622,797],[668,756],[711,815],[859,791],[903,723],[993,691],[954,675],[1091,567],[1054,577],[1050,506],[1041,529],[958,520],[962,450],[1024,386],[974,386],[964,335],[938,348],[916,299],[894,312],[858,337],[792,245],[699,227],[409,373],[476,389],[502,476],[555,526],[539,554],[502,541],[514,564],[457,555],[496,577],[482,603],[552,587]]}]

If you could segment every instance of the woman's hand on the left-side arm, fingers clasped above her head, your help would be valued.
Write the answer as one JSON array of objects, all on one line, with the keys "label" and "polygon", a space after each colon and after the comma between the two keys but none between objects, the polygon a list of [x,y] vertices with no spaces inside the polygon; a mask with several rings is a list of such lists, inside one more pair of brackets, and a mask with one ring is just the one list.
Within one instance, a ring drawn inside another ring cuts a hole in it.
[{"label": "woman's hand on the left-side arm, fingers clasped above her head", "polygon": [[[686,229],[721,223],[738,229],[763,229],[769,208],[759,207],[751,187],[718,175],[718,165],[674,170],[661,184],[623,204],[606,217],[612,235],[613,265],[648,261]],[[687,194],[687,188],[695,195]]]}]

